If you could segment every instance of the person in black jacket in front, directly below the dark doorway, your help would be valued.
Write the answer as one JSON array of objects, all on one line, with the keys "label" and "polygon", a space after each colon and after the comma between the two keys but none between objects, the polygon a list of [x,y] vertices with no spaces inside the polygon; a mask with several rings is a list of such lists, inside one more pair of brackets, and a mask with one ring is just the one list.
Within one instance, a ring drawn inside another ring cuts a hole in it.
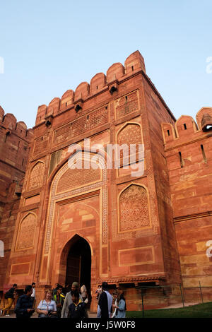
[{"label": "person in black jacket in front, directly below the dark doorway", "polygon": [[79,298],[78,290],[74,290],[71,295],[72,303],[69,305],[69,318],[83,319],[87,317],[85,306],[86,304]]}]

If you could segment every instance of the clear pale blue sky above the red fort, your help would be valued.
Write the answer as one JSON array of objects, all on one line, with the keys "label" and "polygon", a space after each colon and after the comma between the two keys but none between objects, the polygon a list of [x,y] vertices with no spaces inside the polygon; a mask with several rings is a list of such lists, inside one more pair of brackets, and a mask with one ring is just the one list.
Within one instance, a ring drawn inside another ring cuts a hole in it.
[{"label": "clear pale blue sky above the red fort", "polygon": [[0,105],[28,127],[37,107],[139,49],[175,117],[212,107],[211,0],[1,0]]}]

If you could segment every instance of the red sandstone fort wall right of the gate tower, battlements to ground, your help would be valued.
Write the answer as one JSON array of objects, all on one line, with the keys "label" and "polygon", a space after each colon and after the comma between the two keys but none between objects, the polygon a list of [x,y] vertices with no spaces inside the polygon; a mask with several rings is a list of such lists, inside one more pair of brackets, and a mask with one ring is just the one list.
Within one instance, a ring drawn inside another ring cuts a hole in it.
[{"label": "red sandstone fort wall right of the gate tower, battlements to ground", "polygon": [[196,121],[182,115],[175,126],[162,124],[182,280],[191,296],[191,287],[199,283],[207,292],[212,286],[212,262],[206,255],[212,238],[210,117],[212,109],[203,107]]}]

